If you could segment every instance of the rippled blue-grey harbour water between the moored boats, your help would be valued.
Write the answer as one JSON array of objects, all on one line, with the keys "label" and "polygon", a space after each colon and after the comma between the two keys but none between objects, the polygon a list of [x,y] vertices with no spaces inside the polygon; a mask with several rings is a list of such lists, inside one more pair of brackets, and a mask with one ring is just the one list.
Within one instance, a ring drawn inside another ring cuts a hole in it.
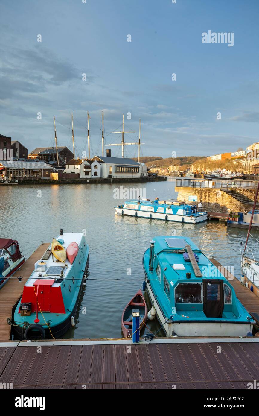
[{"label": "rippled blue-grey harbour water between the moored boats", "polygon": [[[0,188],[0,236],[17,239],[26,257],[40,243],[64,232],[86,230],[90,248],[89,280],[81,296],[76,326],[65,338],[121,337],[121,314],[143,281],[142,257],[155,235],[188,236],[208,257],[214,256],[240,277],[239,243],[247,230],[224,222],[192,225],[115,215],[117,188],[146,189],[146,197],[176,198],[175,178],[165,182],[86,185],[5,186]],[[253,232],[256,237],[256,232]],[[258,236],[257,236],[258,237]],[[249,245],[259,256],[257,242]],[[21,272],[22,274],[22,272]],[[8,284],[8,283],[7,283]],[[149,324],[152,331],[158,324]]]}]

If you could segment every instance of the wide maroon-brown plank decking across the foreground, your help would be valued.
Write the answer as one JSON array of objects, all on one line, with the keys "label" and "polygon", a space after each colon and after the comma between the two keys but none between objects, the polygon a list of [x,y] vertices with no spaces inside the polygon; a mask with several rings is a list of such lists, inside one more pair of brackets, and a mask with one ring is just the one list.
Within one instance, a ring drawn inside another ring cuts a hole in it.
[{"label": "wide maroon-brown plank decking across the foreground", "polygon": [[13,389],[247,389],[258,380],[259,339],[211,341],[0,344],[0,382]]}]

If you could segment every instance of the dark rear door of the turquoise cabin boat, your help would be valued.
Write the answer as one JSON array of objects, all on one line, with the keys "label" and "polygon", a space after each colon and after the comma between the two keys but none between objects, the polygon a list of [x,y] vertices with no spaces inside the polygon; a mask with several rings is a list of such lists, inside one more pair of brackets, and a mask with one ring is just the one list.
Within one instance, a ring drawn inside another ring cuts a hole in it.
[{"label": "dark rear door of the turquoise cabin boat", "polygon": [[203,312],[207,318],[222,318],[223,280],[203,280]]}]

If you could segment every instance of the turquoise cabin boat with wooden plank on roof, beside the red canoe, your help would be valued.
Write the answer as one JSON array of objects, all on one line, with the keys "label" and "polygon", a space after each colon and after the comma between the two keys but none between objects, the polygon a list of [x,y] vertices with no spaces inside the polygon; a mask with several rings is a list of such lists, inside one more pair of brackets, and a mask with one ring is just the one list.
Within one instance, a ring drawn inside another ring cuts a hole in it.
[{"label": "turquoise cabin boat with wooden plank on roof, beside the red canoe", "polygon": [[146,287],[167,336],[244,337],[255,321],[234,288],[187,237],[158,236],[143,256]]}]

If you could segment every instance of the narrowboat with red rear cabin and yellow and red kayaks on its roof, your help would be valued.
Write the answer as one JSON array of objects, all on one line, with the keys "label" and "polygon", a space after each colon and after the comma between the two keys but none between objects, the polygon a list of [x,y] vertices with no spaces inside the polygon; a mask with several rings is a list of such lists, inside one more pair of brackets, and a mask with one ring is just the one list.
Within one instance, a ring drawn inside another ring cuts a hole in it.
[{"label": "narrowboat with red rear cabin and yellow and red kayaks on its roof", "polygon": [[[73,325],[81,288],[86,279],[89,247],[81,233],[64,233],[56,239],[66,250],[75,243],[73,261],[54,257],[53,244],[35,263],[14,312],[15,339],[59,338]],[[56,243],[55,243],[56,244]],[[63,250],[62,250],[63,251]]]}]

